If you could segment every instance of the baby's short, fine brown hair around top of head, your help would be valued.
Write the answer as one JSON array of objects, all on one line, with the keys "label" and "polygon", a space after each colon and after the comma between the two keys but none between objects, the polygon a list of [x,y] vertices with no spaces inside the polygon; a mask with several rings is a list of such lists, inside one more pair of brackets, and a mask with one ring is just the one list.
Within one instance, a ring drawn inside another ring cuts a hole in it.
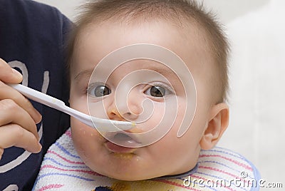
[{"label": "baby's short, fine brown hair around top of head", "polygon": [[[202,4],[191,0],[98,0],[88,1],[83,6],[83,12],[78,16],[76,25],[67,47],[68,71],[71,67],[73,49],[78,36],[90,24],[100,24],[108,21],[150,21],[152,19],[167,19],[178,26],[195,24],[206,34],[217,68],[217,78],[214,80],[213,90],[217,93],[215,103],[227,100],[228,90],[228,55],[229,43],[222,27],[214,16],[204,11]],[[185,24],[186,21],[186,24]]]}]

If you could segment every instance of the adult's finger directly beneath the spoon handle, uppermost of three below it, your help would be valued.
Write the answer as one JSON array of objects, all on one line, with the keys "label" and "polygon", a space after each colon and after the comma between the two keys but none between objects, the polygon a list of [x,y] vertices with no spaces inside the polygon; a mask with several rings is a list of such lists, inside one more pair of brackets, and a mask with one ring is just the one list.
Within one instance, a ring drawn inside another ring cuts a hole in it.
[{"label": "adult's finger directly beneath the spoon handle, uppermost of three below it", "polygon": [[31,115],[31,118],[33,118],[35,123],[39,123],[41,121],[41,114],[33,108],[33,105],[25,96],[0,81],[0,100],[4,99],[14,100],[17,105],[24,108],[24,110]]}]

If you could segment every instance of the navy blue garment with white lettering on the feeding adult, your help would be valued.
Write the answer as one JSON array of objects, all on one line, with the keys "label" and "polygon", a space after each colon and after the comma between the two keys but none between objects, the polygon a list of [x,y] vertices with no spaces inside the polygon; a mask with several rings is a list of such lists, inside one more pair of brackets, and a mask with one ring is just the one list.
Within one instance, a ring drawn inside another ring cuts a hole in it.
[{"label": "navy blue garment with white lettering on the feeding adult", "polygon": [[[23,74],[24,85],[68,103],[63,47],[70,28],[71,21],[51,6],[0,0],[0,57]],[[38,124],[43,150],[31,154],[6,149],[0,160],[0,190],[31,190],[44,153],[69,127],[68,115],[32,103],[43,115]]]}]

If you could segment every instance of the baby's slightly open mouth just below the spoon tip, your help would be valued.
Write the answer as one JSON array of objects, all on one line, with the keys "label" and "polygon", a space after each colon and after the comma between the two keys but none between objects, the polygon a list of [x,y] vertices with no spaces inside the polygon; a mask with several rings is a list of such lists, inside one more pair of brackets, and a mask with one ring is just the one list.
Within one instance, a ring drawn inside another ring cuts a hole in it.
[{"label": "baby's slightly open mouth just below the spoon tip", "polygon": [[135,148],[141,147],[134,135],[124,131],[109,132],[104,137],[107,139],[105,146],[114,153],[133,153]]}]

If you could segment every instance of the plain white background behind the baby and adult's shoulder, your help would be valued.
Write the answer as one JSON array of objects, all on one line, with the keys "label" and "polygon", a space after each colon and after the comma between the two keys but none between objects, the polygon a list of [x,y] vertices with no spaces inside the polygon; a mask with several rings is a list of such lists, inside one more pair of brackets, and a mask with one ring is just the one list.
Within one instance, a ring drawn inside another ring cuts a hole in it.
[{"label": "plain white background behind the baby and adult's shoulder", "polygon": [[[73,20],[83,1],[38,0]],[[204,0],[232,45],[231,117],[219,146],[244,155],[285,187],[285,1]],[[275,189],[282,190],[282,189]]]}]

